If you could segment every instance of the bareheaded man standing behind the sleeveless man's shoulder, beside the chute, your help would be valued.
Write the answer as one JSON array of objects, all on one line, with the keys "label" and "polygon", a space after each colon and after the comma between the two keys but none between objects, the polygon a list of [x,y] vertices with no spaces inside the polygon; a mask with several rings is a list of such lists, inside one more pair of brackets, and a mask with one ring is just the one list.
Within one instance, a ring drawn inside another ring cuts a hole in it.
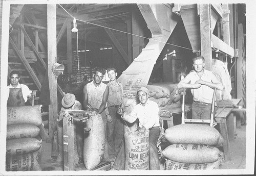
[{"label": "bareheaded man standing behind the sleeveless man's shoulder, beside the chute", "polygon": [[123,86],[116,80],[117,72],[115,68],[108,68],[107,72],[110,78],[110,82],[107,85],[110,90],[107,103],[109,115],[106,116],[106,132],[111,145],[109,154],[117,156],[123,139],[123,120],[117,112],[123,100]]}]

